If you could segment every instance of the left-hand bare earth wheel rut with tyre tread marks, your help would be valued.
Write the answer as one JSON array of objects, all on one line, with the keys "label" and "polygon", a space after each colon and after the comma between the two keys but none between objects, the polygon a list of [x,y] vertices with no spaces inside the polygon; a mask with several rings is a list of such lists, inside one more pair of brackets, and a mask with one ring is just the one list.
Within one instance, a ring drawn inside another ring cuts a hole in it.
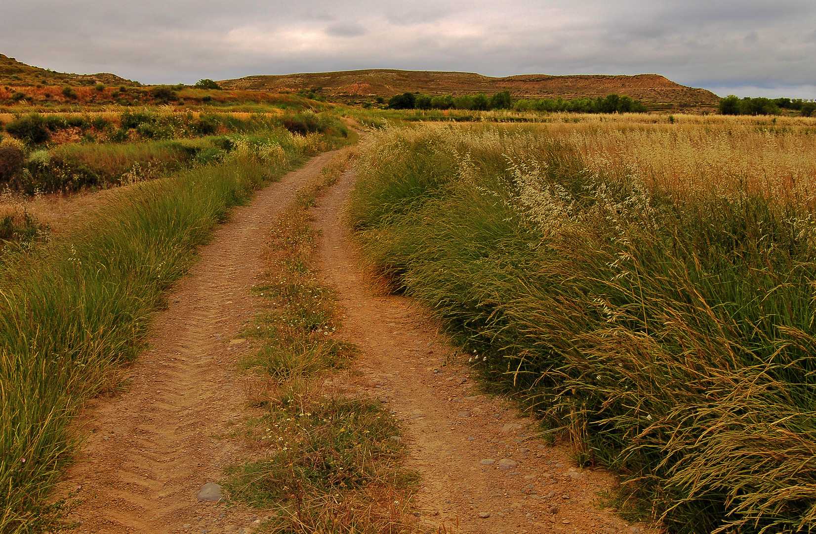
[{"label": "left-hand bare earth wheel rut with tyre tread marks", "polygon": [[313,158],[233,210],[201,249],[201,260],[157,314],[149,349],[130,389],[88,407],[86,446],[65,487],[81,486],[78,533],[242,532],[257,513],[199,501],[205,483],[249,456],[230,436],[246,413],[245,383],[233,365],[250,349],[233,339],[259,311],[249,288],[263,267],[264,241],[295,192],[333,153]]}]

